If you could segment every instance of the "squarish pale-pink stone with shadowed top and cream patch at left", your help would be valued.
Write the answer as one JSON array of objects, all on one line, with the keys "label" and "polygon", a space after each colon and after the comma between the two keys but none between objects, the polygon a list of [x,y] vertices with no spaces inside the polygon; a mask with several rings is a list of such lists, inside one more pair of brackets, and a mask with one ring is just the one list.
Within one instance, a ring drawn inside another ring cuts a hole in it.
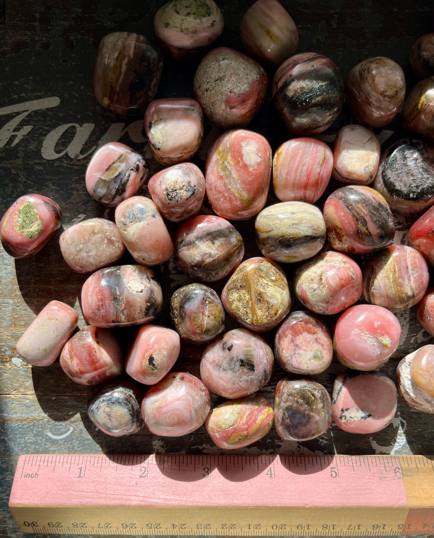
[{"label": "squarish pale-pink stone with shadowed top and cream patch at left", "polygon": [[201,105],[186,97],[152,101],[145,112],[145,131],[154,159],[161,165],[186,161],[202,143]]}]

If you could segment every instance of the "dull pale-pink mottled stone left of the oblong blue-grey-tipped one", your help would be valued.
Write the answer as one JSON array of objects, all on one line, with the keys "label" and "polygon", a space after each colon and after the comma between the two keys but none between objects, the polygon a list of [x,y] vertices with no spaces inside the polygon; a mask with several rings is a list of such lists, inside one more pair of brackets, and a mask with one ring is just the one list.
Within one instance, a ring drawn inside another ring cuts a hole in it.
[{"label": "dull pale-pink mottled stone left of the oblong blue-grey-tipped one", "polygon": [[115,264],[125,245],[114,222],[89,218],[65,230],[59,239],[63,259],[76,273],[91,273]]}]

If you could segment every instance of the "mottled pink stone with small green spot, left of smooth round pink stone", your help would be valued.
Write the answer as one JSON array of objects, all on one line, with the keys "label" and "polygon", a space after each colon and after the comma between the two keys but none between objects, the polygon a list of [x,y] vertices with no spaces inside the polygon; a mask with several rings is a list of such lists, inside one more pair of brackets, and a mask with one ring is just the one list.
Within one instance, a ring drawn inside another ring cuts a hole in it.
[{"label": "mottled pink stone with small green spot, left of smooth round pink stone", "polygon": [[329,329],[318,318],[301,311],[291,312],[280,325],[274,350],[283,370],[308,376],[324,372],[333,358]]}]

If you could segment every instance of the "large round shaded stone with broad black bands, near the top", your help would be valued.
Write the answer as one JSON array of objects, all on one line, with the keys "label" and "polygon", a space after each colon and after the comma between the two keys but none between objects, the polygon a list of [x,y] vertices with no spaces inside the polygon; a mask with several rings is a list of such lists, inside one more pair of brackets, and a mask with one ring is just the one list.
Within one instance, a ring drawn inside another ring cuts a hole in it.
[{"label": "large round shaded stone with broad black bands, near the top", "polygon": [[325,131],[344,104],[336,63],[314,52],[291,56],[274,75],[272,102],[288,131],[299,136]]}]

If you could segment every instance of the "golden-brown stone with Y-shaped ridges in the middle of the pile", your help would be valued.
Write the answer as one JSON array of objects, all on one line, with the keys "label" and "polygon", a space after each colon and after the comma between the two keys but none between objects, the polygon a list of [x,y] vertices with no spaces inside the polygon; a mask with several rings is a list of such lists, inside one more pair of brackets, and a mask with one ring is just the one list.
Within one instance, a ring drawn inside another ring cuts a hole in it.
[{"label": "golden-brown stone with Y-shaped ridges in the middle of the pile", "polygon": [[273,261],[250,258],[238,266],[222,291],[226,312],[247,329],[276,327],[291,307],[288,281]]}]

